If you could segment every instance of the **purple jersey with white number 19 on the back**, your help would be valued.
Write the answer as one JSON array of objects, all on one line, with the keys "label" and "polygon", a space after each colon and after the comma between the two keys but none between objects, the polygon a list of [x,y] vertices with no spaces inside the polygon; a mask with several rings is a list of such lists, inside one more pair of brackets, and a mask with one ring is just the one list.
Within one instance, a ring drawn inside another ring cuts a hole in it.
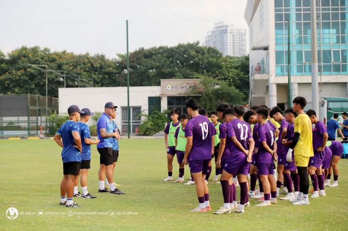
[{"label": "purple jersey with white number 19 on the back", "polygon": [[185,136],[192,137],[192,148],[188,161],[211,159],[212,136],[216,135],[214,125],[208,117],[198,115],[187,122]]}]

